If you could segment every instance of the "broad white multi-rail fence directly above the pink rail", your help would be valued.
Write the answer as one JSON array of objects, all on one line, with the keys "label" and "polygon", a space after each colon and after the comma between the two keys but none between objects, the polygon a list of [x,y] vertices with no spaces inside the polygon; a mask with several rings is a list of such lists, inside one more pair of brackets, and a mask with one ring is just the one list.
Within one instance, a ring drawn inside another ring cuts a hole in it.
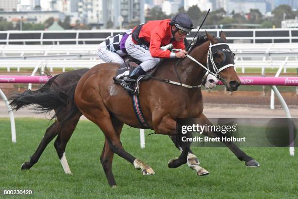
[{"label": "broad white multi-rail fence directly above the pink rail", "polygon": [[[0,45],[0,68],[34,68],[42,60],[53,68],[91,68],[101,63],[97,57],[98,45]],[[236,53],[235,67],[279,68],[283,71],[298,67],[298,45],[295,43],[230,44]]]}]

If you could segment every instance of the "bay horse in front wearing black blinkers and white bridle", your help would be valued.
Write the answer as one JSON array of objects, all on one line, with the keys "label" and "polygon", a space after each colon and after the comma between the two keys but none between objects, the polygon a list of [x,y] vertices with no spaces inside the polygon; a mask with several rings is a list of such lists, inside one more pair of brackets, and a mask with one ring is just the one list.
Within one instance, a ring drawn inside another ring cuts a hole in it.
[{"label": "bay horse in front wearing black blinkers and white bridle", "polygon": [[[209,51],[210,43],[225,43],[225,35],[221,32],[221,38],[213,38],[206,33],[207,41],[194,46],[189,53],[196,61],[214,63],[211,72],[219,72],[220,77],[228,91],[237,90],[241,84],[233,64],[232,52],[223,54],[223,51]],[[226,45],[225,45],[226,46]],[[210,54],[210,52],[212,52]],[[207,55],[210,55],[209,59]],[[226,59],[230,58],[230,59]],[[221,63],[227,63],[222,70]],[[208,64],[208,65],[210,65]],[[200,118],[207,125],[211,122],[203,114],[203,99],[201,88],[186,88],[162,82],[162,79],[181,81],[186,85],[200,85],[204,75],[204,68],[198,63],[186,58],[174,67],[174,61],[164,61],[158,67],[153,78],[140,84],[140,105],[144,116],[151,129],[157,134],[177,135],[177,118]],[[132,108],[131,97],[120,85],[114,84],[113,77],[116,74],[118,64],[102,63],[94,66],[79,80],[75,89],[75,103],[80,112],[93,121],[105,134],[105,146],[100,160],[104,168],[110,186],[116,186],[112,174],[112,159],[114,153],[128,160],[136,169],[141,169],[143,175],[154,174],[153,169],[139,159],[134,158],[124,150],[120,142],[120,134],[123,124],[126,123],[135,128],[141,128]],[[216,67],[219,70],[216,70]],[[176,73],[177,72],[177,73]],[[179,74],[179,77],[176,75]],[[216,132],[204,132],[210,137],[219,137]],[[247,156],[235,144],[224,143],[237,157],[244,160],[248,166],[259,166],[253,158]],[[168,167],[174,168],[186,163],[189,148],[182,149],[178,159],[171,159]]]}]

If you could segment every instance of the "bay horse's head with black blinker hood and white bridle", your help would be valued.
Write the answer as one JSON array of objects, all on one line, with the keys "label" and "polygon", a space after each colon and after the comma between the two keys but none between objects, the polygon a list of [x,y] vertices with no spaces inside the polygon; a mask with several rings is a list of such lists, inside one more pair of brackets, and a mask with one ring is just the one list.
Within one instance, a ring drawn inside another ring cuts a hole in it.
[{"label": "bay horse's head with black blinker hood and white bridle", "polygon": [[214,38],[205,33],[211,42],[207,60],[209,70],[219,75],[219,80],[223,81],[228,91],[236,91],[241,81],[234,69],[235,54],[226,43],[225,34],[221,31],[220,38]]}]

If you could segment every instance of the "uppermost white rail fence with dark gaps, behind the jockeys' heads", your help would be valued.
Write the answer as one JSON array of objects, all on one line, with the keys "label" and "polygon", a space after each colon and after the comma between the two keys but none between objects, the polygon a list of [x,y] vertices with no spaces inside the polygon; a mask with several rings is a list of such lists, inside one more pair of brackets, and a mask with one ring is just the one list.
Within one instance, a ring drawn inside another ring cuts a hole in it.
[{"label": "uppermost white rail fence with dark gaps, behind the jockeys' heads", "polygon": [[[227,39],[233,42],[275,43],[298,42],[298,28],[266,28],[266,29],[202,29],[219,36],[223,30]],[[0,44],[88,44],[98,43],[108,36],[113,36],[126,30],[64,30],[64,31],[0,31]],[[197,29],[188,36],[191,40]]]}]

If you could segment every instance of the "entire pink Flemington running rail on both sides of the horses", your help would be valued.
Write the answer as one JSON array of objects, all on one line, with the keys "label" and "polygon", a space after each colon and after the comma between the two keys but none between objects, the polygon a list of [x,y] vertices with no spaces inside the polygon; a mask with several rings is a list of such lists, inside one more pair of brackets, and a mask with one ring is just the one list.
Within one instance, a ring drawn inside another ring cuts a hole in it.
[{"label": "entire pink Flemington running rail on both sides of the horses", "polygon": [[[242,85],[298,86],[298,77],[239,77]],[[0,83],[46,83],[47,76],[5,76]],[[218,84],[223,85],[221,81]]]}]

